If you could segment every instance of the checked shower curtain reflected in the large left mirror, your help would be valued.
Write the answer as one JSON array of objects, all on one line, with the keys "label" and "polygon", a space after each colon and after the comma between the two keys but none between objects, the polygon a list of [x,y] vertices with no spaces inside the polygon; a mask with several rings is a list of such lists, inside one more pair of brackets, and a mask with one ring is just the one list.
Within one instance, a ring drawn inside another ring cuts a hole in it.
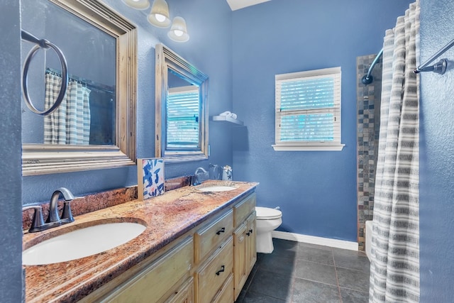
[{"label": "checked shower curtain reflected in the large left mirror", "polygon": [[[45,75],[45,109],[54,103],[60,90],[62,77]],[[62,104],[44,117],[45,144],[89,145],[90,141],[90,89],[77,81],[67,86]]]}]

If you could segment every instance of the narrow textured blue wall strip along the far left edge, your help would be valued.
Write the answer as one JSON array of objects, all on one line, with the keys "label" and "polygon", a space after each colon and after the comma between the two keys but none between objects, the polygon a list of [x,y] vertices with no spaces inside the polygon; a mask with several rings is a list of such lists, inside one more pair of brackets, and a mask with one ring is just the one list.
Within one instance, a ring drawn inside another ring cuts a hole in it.
[{"label": "narrow textured blue wall strip along the far left edge", "polygon": [[0,9],[0,301],[21,302],[21,43],[18,1]]}]

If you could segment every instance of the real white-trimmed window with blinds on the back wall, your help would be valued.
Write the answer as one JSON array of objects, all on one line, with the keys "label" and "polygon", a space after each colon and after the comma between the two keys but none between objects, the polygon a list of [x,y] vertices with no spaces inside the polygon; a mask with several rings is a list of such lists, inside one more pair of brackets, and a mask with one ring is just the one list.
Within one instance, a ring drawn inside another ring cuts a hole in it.
[{"label": "real white-trimmed window with blinds on the back wall", "polygon": [[341,67],[276,75],[275,150],[342,150]]}]

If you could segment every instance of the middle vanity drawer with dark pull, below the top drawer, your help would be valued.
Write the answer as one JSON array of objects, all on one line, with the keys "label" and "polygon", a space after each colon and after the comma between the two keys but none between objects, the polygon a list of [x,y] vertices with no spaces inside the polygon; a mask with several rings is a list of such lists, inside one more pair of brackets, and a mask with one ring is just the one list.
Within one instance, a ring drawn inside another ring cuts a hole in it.
[{"label": "middle vanity drawer with dark pull, below the top drawer", "polygon": [[196,302],[214,299],[227,278],[233,273],[233,240],[230,236],[223,246],[195,274]]}]

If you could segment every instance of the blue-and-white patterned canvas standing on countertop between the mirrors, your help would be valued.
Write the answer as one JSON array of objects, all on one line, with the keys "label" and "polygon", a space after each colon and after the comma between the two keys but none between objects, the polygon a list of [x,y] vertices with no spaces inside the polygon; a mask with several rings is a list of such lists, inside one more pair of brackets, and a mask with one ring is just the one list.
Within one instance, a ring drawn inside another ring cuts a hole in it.
[{"label": "blue-and-white patterned canvas standing on countertop between the mirrors", "polygon": [[137,199],[143,201],[164,194],[164,159],[138,159],[137,165]]}]

